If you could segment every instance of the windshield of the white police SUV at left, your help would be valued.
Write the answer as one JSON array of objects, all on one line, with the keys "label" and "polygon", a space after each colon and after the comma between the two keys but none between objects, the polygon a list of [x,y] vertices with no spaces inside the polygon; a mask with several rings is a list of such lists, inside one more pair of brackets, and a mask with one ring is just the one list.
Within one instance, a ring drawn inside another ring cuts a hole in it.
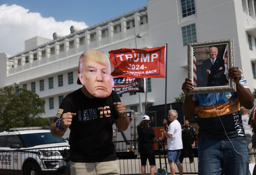
[{"label": "windshield of the white police SUV at left", "polygon": [[51,133],[21,134],[23,141],[28,147],[41,144],[53,144],[65,142],[63,138],[53,137]]}]

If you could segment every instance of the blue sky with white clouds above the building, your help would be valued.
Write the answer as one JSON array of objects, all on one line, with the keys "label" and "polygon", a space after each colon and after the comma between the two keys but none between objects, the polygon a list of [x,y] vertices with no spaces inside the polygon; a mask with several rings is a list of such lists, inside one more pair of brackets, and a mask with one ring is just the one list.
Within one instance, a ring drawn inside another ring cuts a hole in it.
[{"label": "blue sky with white clouds above the building", "polygon": [[145,5],[146,0],[0,0],[0,53],[17,54],[32,37],[67,35],[71,25],[86,28]]}]

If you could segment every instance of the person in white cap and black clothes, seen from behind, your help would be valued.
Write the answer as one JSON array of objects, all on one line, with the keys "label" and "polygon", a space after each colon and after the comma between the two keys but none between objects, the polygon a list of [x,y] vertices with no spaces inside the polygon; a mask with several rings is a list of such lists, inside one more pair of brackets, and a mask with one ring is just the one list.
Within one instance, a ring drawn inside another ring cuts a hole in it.
[{"label": "person in white cap and black clothes, seen from behind", "polygon": [[141,174],[146,174],[147,158],[150,165],[150,175],[154,175],[155,171],[155,154],[153,142],[157,140],[154,130],[149,127],[150,118],[145,115],[142,117],[140,125],[137,126],[137,132],[139,136],[139,152],[141,161]]}]

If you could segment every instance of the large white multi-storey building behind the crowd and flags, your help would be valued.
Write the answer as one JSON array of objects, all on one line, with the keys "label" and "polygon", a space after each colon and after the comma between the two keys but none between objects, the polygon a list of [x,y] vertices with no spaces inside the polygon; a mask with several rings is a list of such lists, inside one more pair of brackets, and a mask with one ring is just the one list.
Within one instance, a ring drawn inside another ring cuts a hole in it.
[{"label": "large white multi-storey building behind the crowd and flags", "polygon": [[[49,40],[25,41],[25,51],[0,53],[0,88],[14,86],[37,93],[46,101],[44,118],[54,119],[61,100],[81,88],[76,84],[82,52],[97,49],[154,48],[166,45],[167,103],[175,101],[187,77],[187,43],[234,38],[235,65],[251,91],[256,88],[256,0],[147,0],[147,6],[70,34]],[[113,67],[112,67],[113,71]],[[147,104],[165,104],[165,79],[148,82]],[[139,110],[138,93],[120,97],[127,109]],[[145,112],[145,93],[141,93]]]}]

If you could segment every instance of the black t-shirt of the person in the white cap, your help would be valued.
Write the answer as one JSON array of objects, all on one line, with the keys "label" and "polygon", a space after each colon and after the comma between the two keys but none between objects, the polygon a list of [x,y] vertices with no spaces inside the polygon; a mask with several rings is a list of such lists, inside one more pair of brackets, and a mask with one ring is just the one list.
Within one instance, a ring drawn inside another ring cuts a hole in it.
[{"label": "black t-shirt of the person in the white cap", "polygon": [[137,132],[139,135],[139,152],[140,153],[151,153],[154,152],[153,140],[155,137],[154,130],[151,127],[141,128],[137,126]]}]

